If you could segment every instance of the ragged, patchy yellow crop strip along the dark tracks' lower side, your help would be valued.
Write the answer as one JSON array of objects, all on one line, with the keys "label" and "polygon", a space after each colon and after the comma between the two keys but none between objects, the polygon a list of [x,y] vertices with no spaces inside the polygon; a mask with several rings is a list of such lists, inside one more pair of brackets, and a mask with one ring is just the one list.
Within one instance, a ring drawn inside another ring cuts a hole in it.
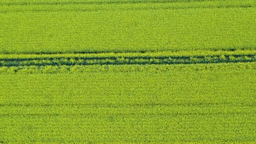
[{"label": "ragged, patchy yellow crop strip along the dark tracks' lower side", "polygon": [[184,70],[245,70],[256,69],[256,62],[247,63],[211,63],[211,64],[132,64],[132,65],[46,65],[0,67],[0,74],[66,74],[66,73],[123,73],[148,72],[161,73],[166,71]]}]

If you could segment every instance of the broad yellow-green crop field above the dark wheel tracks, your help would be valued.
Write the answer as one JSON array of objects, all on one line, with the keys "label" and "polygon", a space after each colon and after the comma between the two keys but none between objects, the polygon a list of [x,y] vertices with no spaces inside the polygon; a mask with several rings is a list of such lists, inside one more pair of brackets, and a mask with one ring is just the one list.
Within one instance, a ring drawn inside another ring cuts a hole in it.
[{"label": "broad yellow-green crop field above the dark wheel tracks", "polygon": [[0,1],[0,53],[255,49],[254,0]]}]

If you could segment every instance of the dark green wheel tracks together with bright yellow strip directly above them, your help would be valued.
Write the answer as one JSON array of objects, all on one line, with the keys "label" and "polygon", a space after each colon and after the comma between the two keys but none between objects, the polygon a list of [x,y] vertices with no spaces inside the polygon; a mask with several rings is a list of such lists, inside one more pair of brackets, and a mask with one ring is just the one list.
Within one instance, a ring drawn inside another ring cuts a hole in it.
[{"label": "dark green wheel tracks together with bright yellow strip directly above them", "polygon": [[165,51],[146,53],[65,53],[46,55],[0,55],[0,67],[46,65],[197,64],[256,62],[256,51]]}]

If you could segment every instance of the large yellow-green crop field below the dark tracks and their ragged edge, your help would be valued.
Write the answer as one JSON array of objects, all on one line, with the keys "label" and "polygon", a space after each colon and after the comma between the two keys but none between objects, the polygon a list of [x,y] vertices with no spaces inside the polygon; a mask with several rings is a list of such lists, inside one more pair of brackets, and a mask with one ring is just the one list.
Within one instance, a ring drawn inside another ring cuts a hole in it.
[{"label": "large yellow-green crop field below the dark tracks and their ragged edge", "polygon": [[0,140],[253,143],[255,74],[242,67],[3,74]]}]

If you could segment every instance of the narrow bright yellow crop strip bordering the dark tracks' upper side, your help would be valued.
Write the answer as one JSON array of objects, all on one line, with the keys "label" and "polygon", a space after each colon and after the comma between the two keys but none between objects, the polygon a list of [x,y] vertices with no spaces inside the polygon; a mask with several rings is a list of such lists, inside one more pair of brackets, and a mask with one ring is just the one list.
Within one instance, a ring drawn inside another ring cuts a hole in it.
[{"label": "narrow bright yellow crop strip bordering the dark tracks' upper side", "polygon": [[100,52],[100,53],[21,53],[0,54],[0,59],[48,59],[48,58],[100,58],[100,57],[195,57],[195,56],[256,55],[254,50],[177,50],[177,51],[139,51],[139,52]]}]

